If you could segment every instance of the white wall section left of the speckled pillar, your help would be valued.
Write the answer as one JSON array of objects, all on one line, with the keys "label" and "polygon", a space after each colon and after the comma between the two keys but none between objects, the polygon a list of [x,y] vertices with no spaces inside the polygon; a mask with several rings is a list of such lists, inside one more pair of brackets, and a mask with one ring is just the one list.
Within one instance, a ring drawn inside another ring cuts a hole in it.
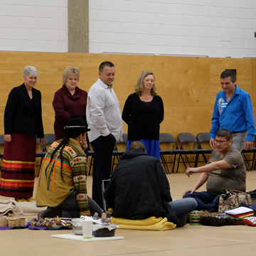
[{"label": "white wall section left of the speckled pillar", "polygon": [[0,50],[67,52],[68,0],[0,0]]}]

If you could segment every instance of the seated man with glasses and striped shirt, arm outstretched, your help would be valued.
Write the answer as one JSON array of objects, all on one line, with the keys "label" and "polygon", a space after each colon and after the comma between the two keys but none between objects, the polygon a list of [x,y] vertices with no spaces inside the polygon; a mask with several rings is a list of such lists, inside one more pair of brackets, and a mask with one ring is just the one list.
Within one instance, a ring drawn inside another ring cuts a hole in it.
[{"label": "seated man with glasses and striped shirt, arm outstretched", "polygon": [[[232,142],[232,133],[227,129],[220,129],[215,135],[217,148],[210,155],[208,164],[186,170],[188,177],[202,173],[193,188],[183,193],[183,198],[196,199],[196,210],[218,212],[218,202],[223,189],[245,192],[245,162],[240,152],[232,146]],[[207,191],[196,192],[204,183]]]}]

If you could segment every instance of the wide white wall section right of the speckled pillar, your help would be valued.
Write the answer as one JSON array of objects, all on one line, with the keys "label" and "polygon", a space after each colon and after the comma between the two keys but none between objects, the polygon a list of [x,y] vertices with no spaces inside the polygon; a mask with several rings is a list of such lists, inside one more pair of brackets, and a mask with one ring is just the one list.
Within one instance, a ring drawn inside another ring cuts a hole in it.
[{"label": "wide white wall section right of the speckled pillar", "polygon": [[90,53],[256,57],[256,0],[90,0]]}]

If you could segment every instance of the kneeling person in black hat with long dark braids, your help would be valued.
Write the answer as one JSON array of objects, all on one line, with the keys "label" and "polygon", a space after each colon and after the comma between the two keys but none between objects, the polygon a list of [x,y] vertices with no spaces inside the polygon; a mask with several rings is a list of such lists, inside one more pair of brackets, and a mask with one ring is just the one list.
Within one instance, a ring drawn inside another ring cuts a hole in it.
[{"label": "kneeling person in black hat with long dark braids", "polygon": [[43,161],[36,189],[36,205],[48,206],[41,218],[79,218],[102,215],[102,209],[87,195],[86,133],[80,118],[70,119],[67,136],[51,144]]}]

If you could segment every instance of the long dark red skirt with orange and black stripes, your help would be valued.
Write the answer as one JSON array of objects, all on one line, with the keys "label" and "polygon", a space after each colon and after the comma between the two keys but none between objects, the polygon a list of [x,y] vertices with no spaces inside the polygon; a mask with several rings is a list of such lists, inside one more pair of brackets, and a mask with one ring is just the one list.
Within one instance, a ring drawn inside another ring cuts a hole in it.
[{"label": "long dark red skirt with orange and black stripes", "polygon": [[36,136],[11,134],[11,142],[4,144],[0,195],[31,198],[36,168]]}]

